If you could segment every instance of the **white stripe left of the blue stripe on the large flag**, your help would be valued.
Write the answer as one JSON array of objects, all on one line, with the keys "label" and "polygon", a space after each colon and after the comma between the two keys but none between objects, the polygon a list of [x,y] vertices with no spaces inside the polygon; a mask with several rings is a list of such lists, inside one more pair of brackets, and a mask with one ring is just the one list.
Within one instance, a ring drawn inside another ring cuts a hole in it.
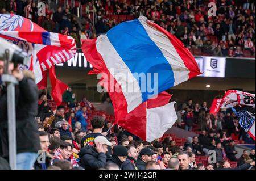
[{"label": "white stripe left of the blue stripe on the large flag", "polygon": [[[114,49],[106,35],[98,37],[96,40],[96,48],[101,54],[110,74],[112,74],[119,85],[121,85],[123,95],[127,102],[127,112],[129,113],[142,103],[142,94],[139,83]],[[125,79],[122,79],[120,76],[121,73],[126,75]],[[129,91],[130,88],[134,88],[134,90]]]}]

